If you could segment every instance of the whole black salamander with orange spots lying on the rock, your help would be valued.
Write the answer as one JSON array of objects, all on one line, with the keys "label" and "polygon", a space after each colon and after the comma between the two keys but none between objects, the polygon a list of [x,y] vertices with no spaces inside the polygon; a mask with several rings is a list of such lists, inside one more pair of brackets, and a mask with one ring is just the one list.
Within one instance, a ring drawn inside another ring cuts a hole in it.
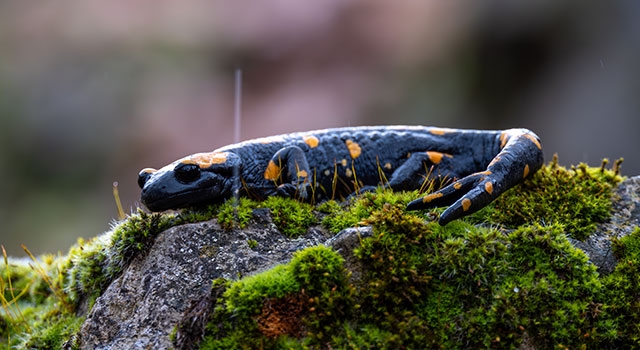
[{"label": "whole black salamander with orange spots lying on the rock", "polygon": [[306,201],[345,198],[376,186],[443,188],[408,210],[449,206],[446,225],[483,208],[536,172],[540,139],[526,129],[504,131],[374,126],[326,129],[229,145],[179,159],[138,177],[151,211],[223,201],[234,195],[279,195]]}]

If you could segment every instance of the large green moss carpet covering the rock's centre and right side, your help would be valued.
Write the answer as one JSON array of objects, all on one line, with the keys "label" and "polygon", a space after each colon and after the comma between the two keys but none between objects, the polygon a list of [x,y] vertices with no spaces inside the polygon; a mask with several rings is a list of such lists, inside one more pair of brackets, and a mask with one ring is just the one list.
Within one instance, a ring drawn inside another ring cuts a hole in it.
[{"label": "large green moss carpet covering the rock's centre and right side", "polygon": [[[640,334],[636,329],[639,320],[637,308],[630,306],[640,295],[634,289],[640,281],[633,277],[640,271],[627,266],[620,272],[627,289],[607,292],[613,283],[608,279],[620,283],[621,277],[599,276],[586,255],[567,240],[567,233],[588,233],[593,221],[607,218],[611,189],[619,181],[615,170],[604,167],[581,165],[567,170],[551,163],[529,184],[505,194],[510,197],[505,203],[445,227],[430,222],[434,219],[430,213],[405,211],[416,192],[394,194],[378,189],[348,205],[320,204],[318,210],[326,215],[323,225],[333,232],[358,225],[373,227],[373,236],[363,239],[354,252],[363,266],[361,281],[334,287],[340,291],[335,294],[339,298],[326,297],[326,292],[321,294],[325,298],[309,298],[313,305],[307,308],[300,307],[296,290],[307,295],[321,276],[331,275],[328,271],[320,276],[296,272],[292,261],[226,282],[229,289],[218,300],[203,348],[240,344],[262,348],[514,348],[525,338],[542,348],[634,344]],[[540,193],[525,193],[528,191]],[[570,201],[582,217],[558,212],[557,201]],[[550,204],[543,208],[540,203]],[[473,224],[492,218],[502,225]],[[513,229],[501,228],[505,226]],[[621,240],[617,251],[640,252],[640,243],[630,239]],[[311,278],[296,278],[299,273]],[[295,280],[301,282],[291,284]],[[251,287],[263,283],[270,287]],[[246,290],[254,292],[243,294]],[[262,292],[255,293],[257,290]],[[611,304],[616,295],[619,302]],[[342,307],[336,309],[335,300]],[[265,309],[270,310],[269,316]],[[279,329],[288,331],[278,333],[277,327],[261,324],[284,317],[283,309],[289,310],[285,318],[302,322],[304,331],[282,326]],[[323,315],[342,312],[320,323],[312,320],[310,310]],[[238,315],[243,315],[243,323],[238,323]]]}]

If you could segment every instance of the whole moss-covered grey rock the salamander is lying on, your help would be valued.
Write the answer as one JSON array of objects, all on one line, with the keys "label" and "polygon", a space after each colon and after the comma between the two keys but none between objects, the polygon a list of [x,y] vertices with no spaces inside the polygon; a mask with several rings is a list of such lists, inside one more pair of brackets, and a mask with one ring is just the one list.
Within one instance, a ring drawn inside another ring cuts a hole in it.
[{"label": "whole moss-covered grey rock the salamander is lying on", "polygon": [[[147,317],[164,327],[145,335],[149,346],[638,346],[640,230],[613,238],[618,263],[610,274],[599,273],[572,244],[607,222],[621,181],[617,167],[565,169],[554,161],[445,227],[433,222],[439,210],[405,211],[417,192],[382,190],[317,211],[282,198],[179,214],[139,211],[102,236],[80,240],[66,256],[32,257],[30,266],[5,259],[0,335],[18,347],[113,344],[107,336],[88,342],[86,331],[105,316],[98,311],[110,312],[105,306],[141,313],[131,299],[136,275],[141,291],[153,286],[142,297],[164,305],[155,312],[171,315],[166,322]],[[351,248],[318,245],[353,226],[371,228],[362,230],[368,235],[347,232],[357,243]],[[175,241],[170,249],[168,240]],[[184,285],[164,290],[163,278],[192,279],[168,263],[178,255],[194,271],[208,271],[201,280],[215,282],[199,282],[190,299],[183,298]],[[210,265],[202,270],[201,262]],[[129,304],[115,302],[123,296]]]}]

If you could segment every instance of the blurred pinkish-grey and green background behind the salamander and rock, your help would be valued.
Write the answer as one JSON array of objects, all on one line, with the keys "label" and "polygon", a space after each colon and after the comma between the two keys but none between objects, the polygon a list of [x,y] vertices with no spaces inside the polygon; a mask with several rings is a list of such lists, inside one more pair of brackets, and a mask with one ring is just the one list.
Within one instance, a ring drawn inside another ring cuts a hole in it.
[{"label": "blurred pinkish-grey and green background behind the salamander and rock", "polygon": [[0,244],[66,252],[137,173],[241,138],[526,127],[640,174],[640,2],[0,2]]}]

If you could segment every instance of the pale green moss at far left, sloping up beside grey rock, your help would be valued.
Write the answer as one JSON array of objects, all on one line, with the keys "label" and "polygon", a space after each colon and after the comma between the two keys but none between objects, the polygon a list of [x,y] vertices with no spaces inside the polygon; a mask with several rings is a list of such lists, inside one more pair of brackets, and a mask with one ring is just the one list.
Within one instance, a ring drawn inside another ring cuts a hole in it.
[{"label": "pale green moss at far left, sloping up beside grey rock", "polygon": [[36,258],[26,248],[30,263],[5,256],[0,266],[2,339],[19,348],[61,348],[84,320],[76,315],[78,307],[90,308],[159,232],[177,222],[172,215],[138,211],[107,234],[78,240],[66,256]]}]

